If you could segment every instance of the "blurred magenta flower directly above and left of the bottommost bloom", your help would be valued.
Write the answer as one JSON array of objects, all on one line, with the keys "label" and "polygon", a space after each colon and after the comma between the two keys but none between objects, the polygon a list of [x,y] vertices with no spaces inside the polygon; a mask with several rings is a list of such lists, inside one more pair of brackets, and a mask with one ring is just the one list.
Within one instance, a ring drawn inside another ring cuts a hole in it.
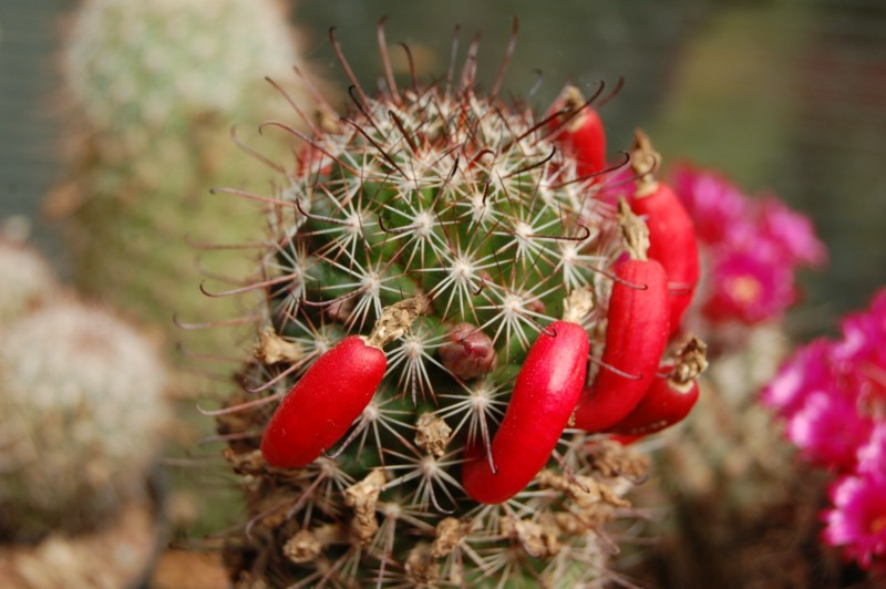
[{"label": "blurred magenta flower directly above and left of the bottommost bloom", "polygon": [[858,448],[867,443],[873,425],[858,414],[854,395],[831,388],[808,393],[787,421],[787,437],[808,461],[847,472],[855,467]]}]

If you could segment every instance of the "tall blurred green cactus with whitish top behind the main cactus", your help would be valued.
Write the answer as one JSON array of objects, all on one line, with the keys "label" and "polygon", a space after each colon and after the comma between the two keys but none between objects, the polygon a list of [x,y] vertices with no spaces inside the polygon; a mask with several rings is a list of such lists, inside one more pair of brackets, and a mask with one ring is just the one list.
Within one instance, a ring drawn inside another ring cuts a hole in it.
[{"label": "tall blurred green cactus with whitish top behind the main cactus", "polygon": [[[240,145],[255,140],[264,117],[288,112],[264,76],[305,100],[287,13],[276,0],[83,0],[65,22],[65,175],[44,211],[65,238],[76,287],[148,330],[176,369],[167,380],[179,401],[171,458],[196,453],[212,433],[194,404],[228,381],[225,361],[246,353],[236,324],[198,329],[243,312],[233,299],[207,311],[200,281],[217,289],[245,271],[243,252],[217,246],[258,239],[262,220],[247,203],[209,189],[268,180]],[[203,535],[236,509],[224,485],[197,493],[203,479],[193,471],[171,473],[176,526]]]}]

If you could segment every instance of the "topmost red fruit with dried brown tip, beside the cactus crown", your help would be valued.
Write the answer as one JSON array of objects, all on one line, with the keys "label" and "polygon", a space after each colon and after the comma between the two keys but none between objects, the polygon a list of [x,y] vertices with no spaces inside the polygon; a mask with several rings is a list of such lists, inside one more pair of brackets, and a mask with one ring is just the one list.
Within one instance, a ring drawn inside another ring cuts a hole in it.
[{"label": "topmost red fruit with dried brown tip, beside the cactus crown", "polygon": [[555,107],[565,112],[550,122],[553,135],[564,151],[576,162],[576,175],[587,177],[606,168],[606,132],[597,111],[585,104],[585,97],[575,86],[566,86]]}]

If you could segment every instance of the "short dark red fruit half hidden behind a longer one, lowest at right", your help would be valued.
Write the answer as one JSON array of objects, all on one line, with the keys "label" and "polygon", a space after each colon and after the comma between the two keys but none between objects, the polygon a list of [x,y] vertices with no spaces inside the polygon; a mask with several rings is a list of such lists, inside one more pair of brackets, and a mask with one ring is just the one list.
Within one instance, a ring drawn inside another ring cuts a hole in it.
[{"label": "short dark red fruit half hidden behind a longer one, lowest at right", "polygon": [[635,410],[609,431],[630,436],[660,432],[683,421],[698,400],[699,385],[696,381],[679,386],[669,379],[656,379]]}]

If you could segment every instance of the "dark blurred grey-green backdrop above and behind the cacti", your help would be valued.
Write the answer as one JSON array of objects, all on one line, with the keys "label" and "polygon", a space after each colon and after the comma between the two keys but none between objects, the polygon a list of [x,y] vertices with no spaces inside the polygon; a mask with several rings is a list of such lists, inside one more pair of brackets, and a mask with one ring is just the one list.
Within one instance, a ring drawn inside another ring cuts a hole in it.
[{"label": "dark blurred grey-green backdrop above and behind the cacti", "polygon": [[[59,49],[73,0],[0,3],[0,216],[24,215],[64,271],[64,248],[40,215],[59,182],[72,105],[60,92]],[[825,330],[886,282],[886,4],[878,0],[302,1],[291,7],[303,59],[347,87],[330,25],[362,83],[381,72],[375,24],[411,48],[423,79],[442,75],[461,25],[461,54],[482,34],[480,80],[492,83],[519,18],[506,89],[546,107],[566,81],[586,94],[621,76],[602,108],[614,148],[647,128],[673,163],[721,169],[745,190],[772,190],[811,215],[831,265],[803,277],[796,334]],[[402,52],[391,49],[396,62]],[[256,84],[262,65],[255,63]],[[405,66],[403,66],[405,69]],[[540,84],[539,84],[540,81]],[[231,122],[220,122],[227,125]]]}]

